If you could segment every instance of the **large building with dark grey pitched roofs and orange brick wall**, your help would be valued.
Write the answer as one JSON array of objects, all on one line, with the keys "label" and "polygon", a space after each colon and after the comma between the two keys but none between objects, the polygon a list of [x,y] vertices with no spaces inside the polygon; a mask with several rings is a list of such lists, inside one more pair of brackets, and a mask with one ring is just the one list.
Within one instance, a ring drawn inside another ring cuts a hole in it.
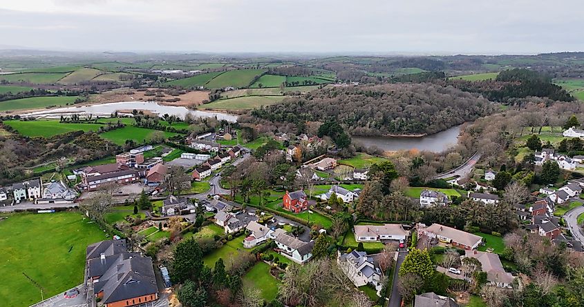
[{"label": "large building with dark grey pitched roofs and orange brick wall", "polygon": [[125,240],[88,246],[86,273],[95,297],[105,307],[135,306],[158,299],[152,259],[128,252]]}]

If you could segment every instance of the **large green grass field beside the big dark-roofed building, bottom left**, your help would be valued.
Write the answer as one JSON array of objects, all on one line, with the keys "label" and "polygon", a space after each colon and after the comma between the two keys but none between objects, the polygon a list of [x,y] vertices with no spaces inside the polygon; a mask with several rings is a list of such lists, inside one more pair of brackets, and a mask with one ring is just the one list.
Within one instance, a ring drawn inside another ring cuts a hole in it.
[{"label": "large green grass field beside the big dark-roofed building, bottom left", "polygon": [[0,297],[3,306],[41,301],[42,286],[51,297],[82,284],[85,250],[106,239],[95,224],[77,212],[11,215],[0,221]]}]

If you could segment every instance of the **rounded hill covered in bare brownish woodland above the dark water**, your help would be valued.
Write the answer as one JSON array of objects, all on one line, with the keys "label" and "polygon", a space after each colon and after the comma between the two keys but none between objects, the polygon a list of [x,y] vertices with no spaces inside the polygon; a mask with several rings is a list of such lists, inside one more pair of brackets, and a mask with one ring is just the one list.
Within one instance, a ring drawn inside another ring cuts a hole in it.
[{"label": "rounded hill covered in bare brownish woodland above the dark water", "polygon": [[491,101],[451,86],[332,86],[252,111],[279,123],[336,119],[351,135],[431,134],[496,112]]}]

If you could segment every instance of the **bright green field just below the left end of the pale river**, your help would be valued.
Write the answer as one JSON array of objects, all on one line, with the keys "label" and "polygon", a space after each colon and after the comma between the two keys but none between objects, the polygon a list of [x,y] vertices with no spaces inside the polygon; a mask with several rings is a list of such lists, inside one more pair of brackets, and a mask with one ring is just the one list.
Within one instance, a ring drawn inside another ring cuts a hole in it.
[{"label": "bright green field just below the left end of the pale river", "polygon": [[4,123],[26,137],[52,137],[77,130],[97,131],[102,126],[98,123],[59,123],[59,121],[4,121]]}]

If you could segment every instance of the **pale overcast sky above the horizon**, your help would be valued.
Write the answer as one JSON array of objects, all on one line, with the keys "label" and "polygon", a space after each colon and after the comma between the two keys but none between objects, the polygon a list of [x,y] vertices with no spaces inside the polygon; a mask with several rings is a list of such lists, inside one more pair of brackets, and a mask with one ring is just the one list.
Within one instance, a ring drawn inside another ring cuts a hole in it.
[{"label": "pale overcast sky above the horizon", "polygon": [[0,0],[0,48],[582,51],[583,12],[583,0]]}]

